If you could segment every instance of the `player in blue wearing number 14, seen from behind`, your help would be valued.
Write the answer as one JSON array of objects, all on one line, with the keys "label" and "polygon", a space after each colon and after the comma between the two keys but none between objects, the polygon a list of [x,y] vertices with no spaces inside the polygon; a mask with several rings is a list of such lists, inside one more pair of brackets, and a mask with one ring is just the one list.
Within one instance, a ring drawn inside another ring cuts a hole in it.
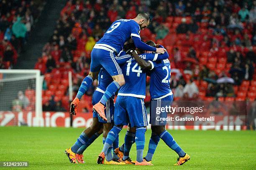
[{"label": "player in blue wearing number 14, seen from behind", "polygon": [[[146,54],[141,55],[142,58],[145,58],[145,56]],[[156,60],[157,56],[158,54],[154,54],[152,60]],[[168,56],[166,56],[166,58],[168,58]],[[115,141],[115,138],[121,131],[123,125],[128,125],[129,123],[131,127],[136,127],[135,142],[137,158],[135,165],[151,165],[151,163],[143,160],[145,132],[146,126],[148,125],[146,107],[144,105],[146,95],[146,72],[145,70],[141,70],[141,67],[138,66],[138,63],[136,63],[134,58],[131,58],[131,55],[121,55],[121,57],[116,59],[118,63],[124,63],[121,66],[121,69],[125,72],[124,76],[126,83],[118,91],[118,97],[115,103],[115,125],[108,133],[102,152],[97,159],[97,163],[104,163],[108,148],[112,145],[113,141]],[[152,69],[154,66],[153,62],[149,61],[148,63],[151,66],[148,67],[148,69]],[[131,133],[130,136],[130,139],[132,140],[134,133]],[[128,159],[129,157],[126,156],[122,161],[127,162]],[[131,160],[129,162],[131,162]]]}]

